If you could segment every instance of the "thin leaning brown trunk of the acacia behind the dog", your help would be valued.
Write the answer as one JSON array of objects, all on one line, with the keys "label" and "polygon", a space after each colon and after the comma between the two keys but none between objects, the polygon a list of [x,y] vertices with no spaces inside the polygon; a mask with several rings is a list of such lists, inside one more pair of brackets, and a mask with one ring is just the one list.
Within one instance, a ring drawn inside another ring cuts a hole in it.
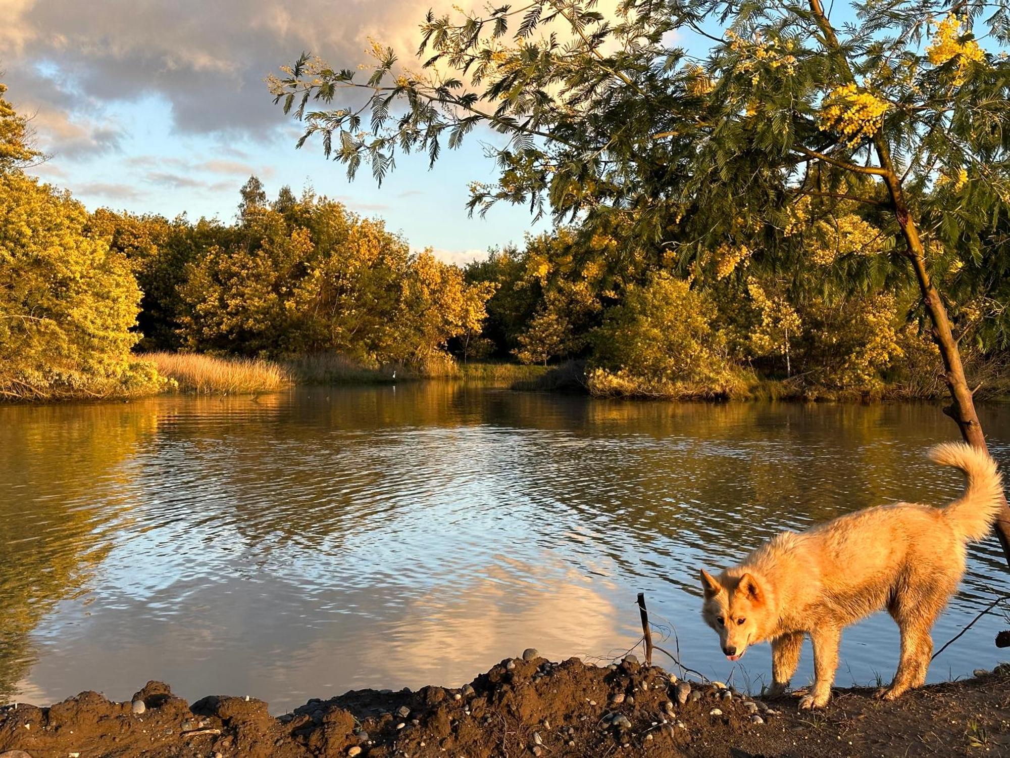
[{"label": "thin leaning brown trunk of the acacia behind the dog", "polygon": [[[837,57],[837,63],[841,71],[846,75],[848,82],[854,82],[851,68],[844,57],[838,37],[834,33],[834,28],[828,21],[827,15],[820,0],[809,0],[810,10],[814,20],[820,27],[824,35],[824,44],[833,55]],[[894,163],[891,160],[891,151],[883,134],[878,132],[874,136],[874,148],[880,160],[881,169],[884,170],[883,180],[887,185],[894,204],[894,214],[901,228],[902,239],[908,248],[907,255],[915,270],[915,278],[919,283],[919,290],[922,293],[922,301],[929,313],[932,321],[933,341],[939,348],[940,357],[943,360],[943,380],[950,390],[951,404],[943,409],[957,423],[961,436],[969,445],[981,450],[988,450],[986,437],[982,432],[982,424],[975,411],[975,400],[972,397],[972,390],[968,386],[965,378],[965,367],[961,362],[961,351],[957,349],[957,341],[950,329],[950,319],[947,318],[946,308],[939,292],[932,283],[929,271],[926,268],[925,249],[922,247],[922,240],[919,238],[919,230],[908,209],[908,202],[901,186],[901,178],[895,171]],[[1003,509],[996,518],[996,536],[1003,546],[1003,553],[1007,563],[1010,564],[1010,505],[1007,504],[1006,494],[1003,495]]]}]

